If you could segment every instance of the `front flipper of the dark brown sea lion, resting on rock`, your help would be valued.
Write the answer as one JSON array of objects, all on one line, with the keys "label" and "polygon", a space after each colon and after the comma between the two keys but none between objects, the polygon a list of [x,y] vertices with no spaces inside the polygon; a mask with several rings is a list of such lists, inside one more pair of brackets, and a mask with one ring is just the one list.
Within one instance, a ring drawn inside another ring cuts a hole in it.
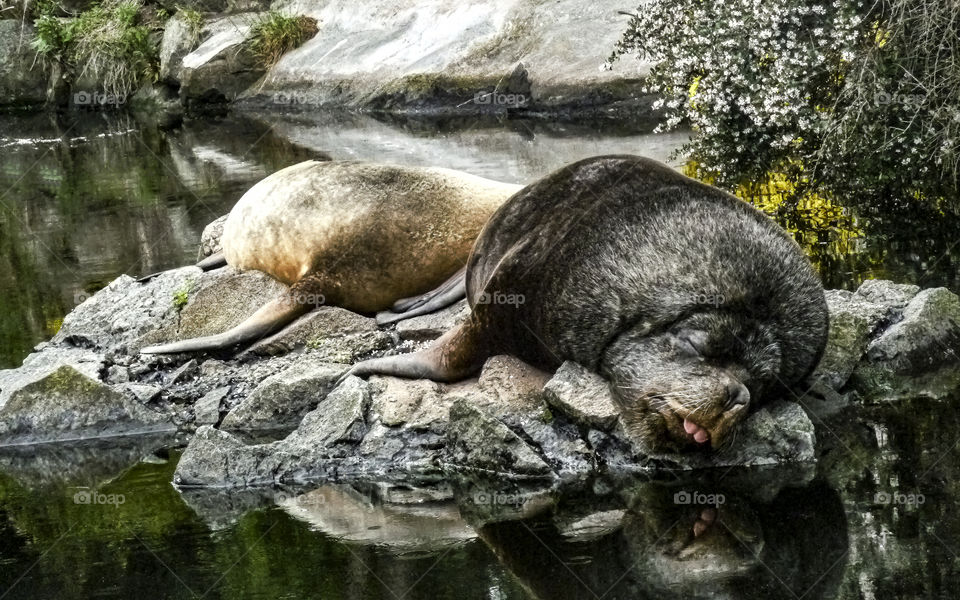
[{"label": "front flipper of the dark brown sea lion, resting on rock", "polygon": [[341,381],[350,375],[458,381],[480,370],[489,353],[483,328],[470,318],[437,338],[429,348],[357,363],[341,377]]}]

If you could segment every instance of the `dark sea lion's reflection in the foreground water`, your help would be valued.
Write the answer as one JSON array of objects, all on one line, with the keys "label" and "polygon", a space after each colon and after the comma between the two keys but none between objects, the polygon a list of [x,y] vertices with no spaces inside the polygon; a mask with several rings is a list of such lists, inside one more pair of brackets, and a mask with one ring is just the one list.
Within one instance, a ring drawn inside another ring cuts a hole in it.
[{"label": "dark sea lion's reflection in the foreground water", "polygon": [[724,493],[711,506],[675,502],[684,489],[639,486],[626,510],[595,513],[615,520],[601,535],[590,516],[564,516],[562,500],[558,514],[479,533],[543,600],[834,597],[847,548],[834,491],[816,484],[770,502]]}]

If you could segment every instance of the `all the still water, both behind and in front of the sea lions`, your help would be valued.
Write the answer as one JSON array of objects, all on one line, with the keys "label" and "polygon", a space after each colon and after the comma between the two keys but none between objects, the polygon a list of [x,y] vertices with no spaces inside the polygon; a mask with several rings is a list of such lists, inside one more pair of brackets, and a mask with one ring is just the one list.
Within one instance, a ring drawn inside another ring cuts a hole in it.
[{"label": "all the still water, both behind and in front of the sea lions", "polygon": [[[0,367],[117,275],[192,262],[206,223],[308,158],[524,183],[597,154],[667,160],[686,139],[486,120],[234,116],[159,131],[80,117],[0,117]],[[828,287],[960,289],[960,219],[940,206],[740,193],[794,234]],[[178,491],[182,440],[3,448],[0,598],[956,597],[954,403],[818,410],[815,468],[546,490]]]}]

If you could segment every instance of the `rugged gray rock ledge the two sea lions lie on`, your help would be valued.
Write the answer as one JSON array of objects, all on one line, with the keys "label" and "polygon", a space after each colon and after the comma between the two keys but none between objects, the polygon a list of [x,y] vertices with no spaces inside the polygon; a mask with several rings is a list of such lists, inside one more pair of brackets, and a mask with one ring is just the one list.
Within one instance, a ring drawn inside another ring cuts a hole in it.
[{"label": "rugged gray rock ledge the two sea lions lie on", "polygon": [[[205,244],[215,248],[216,235]],[[350,364],[429,343],[464,302],[381,329],[321,307],[252,345],[195,356],[144,346],[222,331],[282,286],[231,268],[122,276],[78,306],[23,366],[0,371],[0,445],[175,431],[189,438],[183,487],[377,477],[430,484],[454,472],[565,481],[598,471],[658,472],[811,464],[831,403],[956,397],[960,299],[888,281],[831,290],[828,348],[809,390],[756,410],[719,452],[655,455],[624,433],[609,386],[567,362],[544,373],[495,356],[455,384],[349,377]]]}]

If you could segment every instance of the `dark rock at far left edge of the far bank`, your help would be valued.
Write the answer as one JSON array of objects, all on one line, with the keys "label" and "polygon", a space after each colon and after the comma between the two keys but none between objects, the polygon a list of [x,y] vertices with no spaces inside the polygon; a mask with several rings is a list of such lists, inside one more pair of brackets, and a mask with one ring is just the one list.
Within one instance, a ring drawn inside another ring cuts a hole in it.
[{"label": "dark rock at far left edge of the far bank", "polygon": [[26,20],[0,20],[0,106],[27,107],[47,98],[48,69],[30,46],[36,35]]}]

